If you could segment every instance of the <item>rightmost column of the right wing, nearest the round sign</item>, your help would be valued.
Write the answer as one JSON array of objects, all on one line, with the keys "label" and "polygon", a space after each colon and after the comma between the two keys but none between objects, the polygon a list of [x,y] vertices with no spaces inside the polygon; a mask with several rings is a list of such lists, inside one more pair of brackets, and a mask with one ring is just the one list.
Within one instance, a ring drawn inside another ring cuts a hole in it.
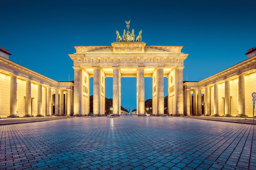
[{"label": "rightmost column of the right wing, nearest the round sign", "polygon": [[245,89],[244,89],[244,75],[238,77],[238,116],[245,115]]}]

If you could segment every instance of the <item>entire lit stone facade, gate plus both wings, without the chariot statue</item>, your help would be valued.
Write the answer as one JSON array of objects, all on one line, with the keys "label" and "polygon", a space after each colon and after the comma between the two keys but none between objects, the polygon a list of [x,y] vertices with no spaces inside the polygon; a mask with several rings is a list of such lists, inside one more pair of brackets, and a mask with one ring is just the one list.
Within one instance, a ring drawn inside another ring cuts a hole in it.
[{"label": "entire lit stone facade, gate plus both wings, without the chariot statue", "polygon": [[[164,115],[168,78],[169,115],[253,116],[256,48],[247,59],[199,82],[183,82],[183,46],[146,46],[115,42],[111,46],[75,46],[74,83],[58,82],[9,60],[0,47],[0,116],[89,115],[90,77],[93,114],[105,114],[105,78],[113,77],[113,115],[121,113],[121,78],[137,78],[137,113],[145,114],[145,77],[152,78],[153,115]],[[58,94],[58,95],[56,95]],[[196,97],[194,97],[196,96]]]}]

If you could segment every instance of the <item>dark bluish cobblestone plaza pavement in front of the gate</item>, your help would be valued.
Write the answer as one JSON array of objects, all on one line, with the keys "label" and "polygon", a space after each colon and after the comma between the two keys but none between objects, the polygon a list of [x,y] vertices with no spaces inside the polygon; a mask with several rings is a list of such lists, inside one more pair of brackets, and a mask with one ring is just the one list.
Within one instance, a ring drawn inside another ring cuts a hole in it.
[{"label": "dark bluish cobblestone plaza pavement in front of the gate", "polygon": [[0,126],[0,169],[256,169],[255,125],[74,117]]}]

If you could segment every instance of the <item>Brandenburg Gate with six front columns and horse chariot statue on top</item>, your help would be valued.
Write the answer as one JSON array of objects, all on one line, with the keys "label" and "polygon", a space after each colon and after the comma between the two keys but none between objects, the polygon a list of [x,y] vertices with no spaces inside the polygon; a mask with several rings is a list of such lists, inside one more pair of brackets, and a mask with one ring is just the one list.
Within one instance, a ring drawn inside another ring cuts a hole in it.
[{"label": "Brandenburg Gate with six front columns and horse chariot statue on top", "polygon": [[[127,23],[129,25],[129,23]],[[134,42],[127,26],[127,34],[117,33],[111,46],[74,46],[73,60],[74,115],[89,115],[89,78],[93,77],[93,115],[105,114],[105,78],[113,77],[113,116],[121,114],[121,78],[137,78],[137,115],[145,114],[145,77],[152,78],[153,115],[164,115],[164,77],[168,78],[168,114],[183,114],[183,46],[146,46],[141,33]]]}]

